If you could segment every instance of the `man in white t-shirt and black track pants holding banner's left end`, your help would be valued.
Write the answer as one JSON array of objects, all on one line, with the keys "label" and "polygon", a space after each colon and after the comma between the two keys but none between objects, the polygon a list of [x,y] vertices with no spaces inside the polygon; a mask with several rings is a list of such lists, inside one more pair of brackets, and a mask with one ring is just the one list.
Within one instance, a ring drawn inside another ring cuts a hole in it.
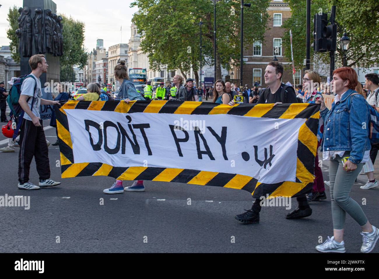
[{"label": "man in white t-shirt and black track pants holding banner's left end", "polygon": [[[19,153],[19,189],[35,190],[61,184],[50,179],[49,150],[47,149],[45,132],[40,119],[39,107],[55,105],[59,101],[42,99],[41,81],[39,77],[47,72],[45,56],[36,54],[30,57],[31,74],[25,77],[21,85],[19,104],[25,112],[20,128]],[[30,163],[36,160],[39,175],[39,186],[29,182]]]}]

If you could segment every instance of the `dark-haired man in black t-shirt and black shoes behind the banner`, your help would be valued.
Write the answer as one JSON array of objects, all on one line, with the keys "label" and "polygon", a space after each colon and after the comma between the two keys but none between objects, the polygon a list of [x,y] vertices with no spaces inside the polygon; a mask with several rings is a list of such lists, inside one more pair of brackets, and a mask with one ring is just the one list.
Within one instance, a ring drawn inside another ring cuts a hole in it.
[{"label": "dark-haired man in black t-shirt and black shoes behind the banner", "polygon": [[[265,70],[265,83],[268,87],[262,91],[257,104],[292,104],[297,103],[295,90],[282,83],[283,65],[278,61],[268,63]],[[234,101],[229,102],[230,106],[234,105]],[[307,196],[304,194],[297,197],[298,208],[286,215],[287,219],[299,219],[310,216],[312,209],[307,202]],[[258,223],[259,212],[262,209],[260,199],[255,199],[251,210],[246,210],[245,213],[238,214],[235,219],[243,223]]]}]

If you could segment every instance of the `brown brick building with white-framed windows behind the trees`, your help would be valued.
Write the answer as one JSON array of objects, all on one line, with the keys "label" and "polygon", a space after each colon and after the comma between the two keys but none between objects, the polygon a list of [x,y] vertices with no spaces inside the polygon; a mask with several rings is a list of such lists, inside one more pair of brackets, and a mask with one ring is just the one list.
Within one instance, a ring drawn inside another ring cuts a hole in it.
[{"label": "brown brick building with white-framed windows behind the trees", "polygon": [[[268,9],[269,19],[268,27],[271,28],[266,30],[266,36],[264,41],[254,42],[249,49],[244,50],[243,58],[245,60],[243,65],[243,83],[248,84],[252,87],[255,81],[260,82],[262,86],[265,85],[265,69],[267,64],[276,58],[283,63],[286,67],[291,64],[290,61],[283,57],[283,47],[282,38],[283,36],[289,36],[289,34],[284,33],[285,30],[282,27],[283,22],[291,17],[291,9],[288,3],[282,0],[271,1]],[[246,61],[247,60],[247,61]],[[235,66],[233,70],[233,82],[240,85],[240,67]],[[301,69],[296,69],[295,83],[300,84]],[[293,83],[292,71],[290,69],[284,70],[282,82],[287,81]],[[244,85],[243,84],[243,85]]]}]

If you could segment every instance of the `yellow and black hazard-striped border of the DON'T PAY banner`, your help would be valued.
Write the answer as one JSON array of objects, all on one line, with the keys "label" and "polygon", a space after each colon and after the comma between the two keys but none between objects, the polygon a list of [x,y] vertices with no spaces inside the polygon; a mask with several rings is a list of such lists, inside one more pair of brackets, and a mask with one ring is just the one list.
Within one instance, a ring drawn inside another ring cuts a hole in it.
[{"label": "yellow and black hazard-striped border of the DON'T PAY banner", "polygon": [[[242,189],[254,198],[266,196],[297,196],[312,189],[314,180],[315,154],[319,105],[280,104],[239,104],[234,107],[209,102],[179,101],[67,101],[60,109],[55,108],[58,137],[60,139],[62,178],[105,175],[120,180],[151,180],[219,186]],[[299,130],[298,154],[295,182],[265,184],[255,178],[236,173],[208,172],[191,169],[160,167],[113,167],[101,162],[75,163],[65,109],[86,109],[115,111],[122,113],[150,112],[175,114],[230,114],[266,118],[307,118]]]}]

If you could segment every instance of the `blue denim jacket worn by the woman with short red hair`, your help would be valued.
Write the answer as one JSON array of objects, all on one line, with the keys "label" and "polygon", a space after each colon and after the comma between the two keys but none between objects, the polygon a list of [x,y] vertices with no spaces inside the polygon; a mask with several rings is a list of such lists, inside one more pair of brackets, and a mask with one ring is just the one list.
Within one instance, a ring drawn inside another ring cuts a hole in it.
[{"label": "blue denim jacket worn by the woman with short red hair", "polygon": [[321,151],[351,151],[349,160],[359,164],[366,150],[371,149],[368,138],[370,111],[362,95],[351,97],[350,112],[346,108],[348,97],[356,91],[349,89],[341,95],[340,101],[332,103],[332,109],[321,110],[324,120],[324,135]]}]

